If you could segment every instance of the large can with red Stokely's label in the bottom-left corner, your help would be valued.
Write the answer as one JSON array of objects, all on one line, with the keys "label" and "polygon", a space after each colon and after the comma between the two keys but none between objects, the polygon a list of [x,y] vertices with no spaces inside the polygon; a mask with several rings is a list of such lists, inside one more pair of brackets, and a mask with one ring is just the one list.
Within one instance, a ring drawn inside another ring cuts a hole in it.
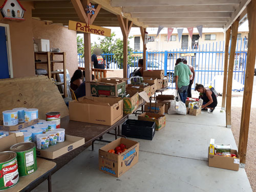
[{"label": "large can with red Stokely's label in the bottom-left corner", "polygon": [[17,155],[14,152],[0,153],[0,190],[13,187],[18,183]]}]

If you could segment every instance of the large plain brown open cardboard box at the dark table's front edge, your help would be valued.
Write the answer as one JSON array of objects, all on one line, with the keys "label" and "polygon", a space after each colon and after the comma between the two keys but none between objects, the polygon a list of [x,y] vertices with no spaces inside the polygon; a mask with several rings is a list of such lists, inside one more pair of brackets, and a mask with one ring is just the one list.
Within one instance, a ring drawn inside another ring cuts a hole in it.
[{"label": "large plain brown open cardboard box at the dark table's front edge", "polygon": [[113,125],[122,117],[123,100],[120,98],[81,97],[69,102],[69,118],[73,121]]}]

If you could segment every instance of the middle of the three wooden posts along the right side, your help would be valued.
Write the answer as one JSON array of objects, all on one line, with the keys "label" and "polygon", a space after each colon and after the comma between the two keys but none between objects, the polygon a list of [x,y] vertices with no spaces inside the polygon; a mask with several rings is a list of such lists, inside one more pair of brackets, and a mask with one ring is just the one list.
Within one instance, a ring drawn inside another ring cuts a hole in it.
[{"label": "middle of the three wooden posts along the right side", "polygon": [[[232,38],[231,48],[229,54],[228,63],[228,77],[227,77],[227,104],[226,104],[226,126],[231,128],[231,94],[232,94],[232,80],[233,80],[233,68],[234,68],[234,54],[236,52],[236,44],[238,37],[238,24],[239,20],[235,20],[232,24]],[[224,83],[224,82],[223,82]]]}]

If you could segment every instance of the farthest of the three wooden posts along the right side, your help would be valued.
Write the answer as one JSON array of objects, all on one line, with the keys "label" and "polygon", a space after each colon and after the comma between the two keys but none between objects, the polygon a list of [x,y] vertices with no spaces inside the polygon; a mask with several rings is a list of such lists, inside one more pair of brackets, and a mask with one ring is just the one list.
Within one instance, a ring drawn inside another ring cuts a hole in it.
[{"label": "farthest of the three wooden posts along the right side", "polygon": [[225,109],[226,102],[226,90],[227,90],[227,66],[228,66],[228,48],[229,48],[229,39],[230,39],[231,28],[228,28],[226,31],[225,38],[225,60],[224,60],[224,78],[223,78],[223,91],[222,91],[222,103],[221,109]]}]

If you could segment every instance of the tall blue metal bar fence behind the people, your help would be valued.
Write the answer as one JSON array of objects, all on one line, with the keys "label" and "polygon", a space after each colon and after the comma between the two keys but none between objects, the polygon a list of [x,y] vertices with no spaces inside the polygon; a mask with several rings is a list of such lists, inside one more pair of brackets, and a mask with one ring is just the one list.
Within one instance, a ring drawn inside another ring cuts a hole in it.
[{"label": "tall blue metal bar fence behind the people", "polygon": [[[231,43],[229,44],[231,45]],[[223,75],[224,72],[224,41],[212,42],[205,45],[199,45],[197,49],[176,49],[160,52],[146,52],[146,70],[164,70],[165,76],[169,77],[169,88],[175,88],[174,79],[174,67],[177,58],[185,58],[188,65],[191,65],[195,69],[195,80],[204,84],[205,86],[216,86],[219,82],[218,75]],[[127,77],[138,68],[138,60],[142,58],[143,52],[130,53],[132,59],[127,66]],[[114,59],[113,53],[103,54],[106,63],[108,63],[108,69],[122,69],[122,63],[118,63]],[[247,43],[244,40],[237,41],[236,56],[234,58],[234,70],[233,78],[237,83],[237,87],[234,87],[233,91],[243,91],[245,67],[247,57]],[[81,54],[78,54],[78,66],[84,67],[84,60],[81,58]],[[223,79],[223,78],[222,78]],[[193,89],[195,83],[193,84]]]}]

